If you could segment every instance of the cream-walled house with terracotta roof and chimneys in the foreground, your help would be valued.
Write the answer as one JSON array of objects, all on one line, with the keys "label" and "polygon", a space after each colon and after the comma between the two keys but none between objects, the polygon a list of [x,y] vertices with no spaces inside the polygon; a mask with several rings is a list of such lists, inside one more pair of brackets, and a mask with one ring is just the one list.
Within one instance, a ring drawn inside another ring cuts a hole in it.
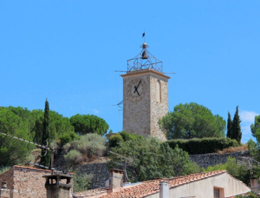
[{"label": "cream-walled house with terracotta roof and chimneys in the foreground", "polygon": [[251,189],[225,170],[122,185],[122,172],[110,170],[106,188],[75,193],[74,198],[234,198]]}]

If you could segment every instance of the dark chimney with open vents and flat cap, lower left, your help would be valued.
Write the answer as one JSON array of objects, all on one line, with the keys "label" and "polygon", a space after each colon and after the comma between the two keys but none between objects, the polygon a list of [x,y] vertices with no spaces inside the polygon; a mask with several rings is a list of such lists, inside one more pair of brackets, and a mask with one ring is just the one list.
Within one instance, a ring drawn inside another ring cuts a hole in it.
[{"label": "dark chimney with open vents and flat cap, lower left", "polygon": [[70,180],[72,176],[57,174],[42,176],[46,178],[47,198],[69,198]]}]

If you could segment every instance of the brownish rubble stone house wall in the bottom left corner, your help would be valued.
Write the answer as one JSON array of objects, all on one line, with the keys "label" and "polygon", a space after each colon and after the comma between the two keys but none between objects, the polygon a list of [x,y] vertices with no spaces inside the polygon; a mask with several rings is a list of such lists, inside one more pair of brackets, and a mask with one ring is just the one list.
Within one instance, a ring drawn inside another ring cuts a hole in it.
[{"label": "brownish rubble stone house wall in the bottom left corner", "polygon": [[45,179],[42,176],[50,174],[48,170],[13,166],[0,175],[0,183],[6,182],[10,198],[46,198]]}]

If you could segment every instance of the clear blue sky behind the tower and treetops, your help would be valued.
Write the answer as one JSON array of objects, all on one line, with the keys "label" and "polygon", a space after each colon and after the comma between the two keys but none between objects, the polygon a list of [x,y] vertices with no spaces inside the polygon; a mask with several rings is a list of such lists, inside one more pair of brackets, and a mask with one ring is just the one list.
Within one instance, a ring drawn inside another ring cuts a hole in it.
[{"label": "clear blue sky behind the tower and treetops", "polygon": [[0,106],[94,114],[122,130],[126,60],[163,61],[169,111],[196,102],[225,120],[239,105],[242,141],[260,113],[259,0],[0,1]]}]

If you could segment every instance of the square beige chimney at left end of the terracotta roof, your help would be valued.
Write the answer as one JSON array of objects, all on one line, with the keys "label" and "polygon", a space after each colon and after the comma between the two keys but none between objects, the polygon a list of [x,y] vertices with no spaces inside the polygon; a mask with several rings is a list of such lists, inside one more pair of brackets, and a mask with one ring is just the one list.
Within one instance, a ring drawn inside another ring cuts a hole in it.
[{"label": "square beige chimney at left end of the terracotta roof", "polygon": [[106,184],[107,193],[120,191],[123,187],[123,171],[110,169],[109,186]]}]

